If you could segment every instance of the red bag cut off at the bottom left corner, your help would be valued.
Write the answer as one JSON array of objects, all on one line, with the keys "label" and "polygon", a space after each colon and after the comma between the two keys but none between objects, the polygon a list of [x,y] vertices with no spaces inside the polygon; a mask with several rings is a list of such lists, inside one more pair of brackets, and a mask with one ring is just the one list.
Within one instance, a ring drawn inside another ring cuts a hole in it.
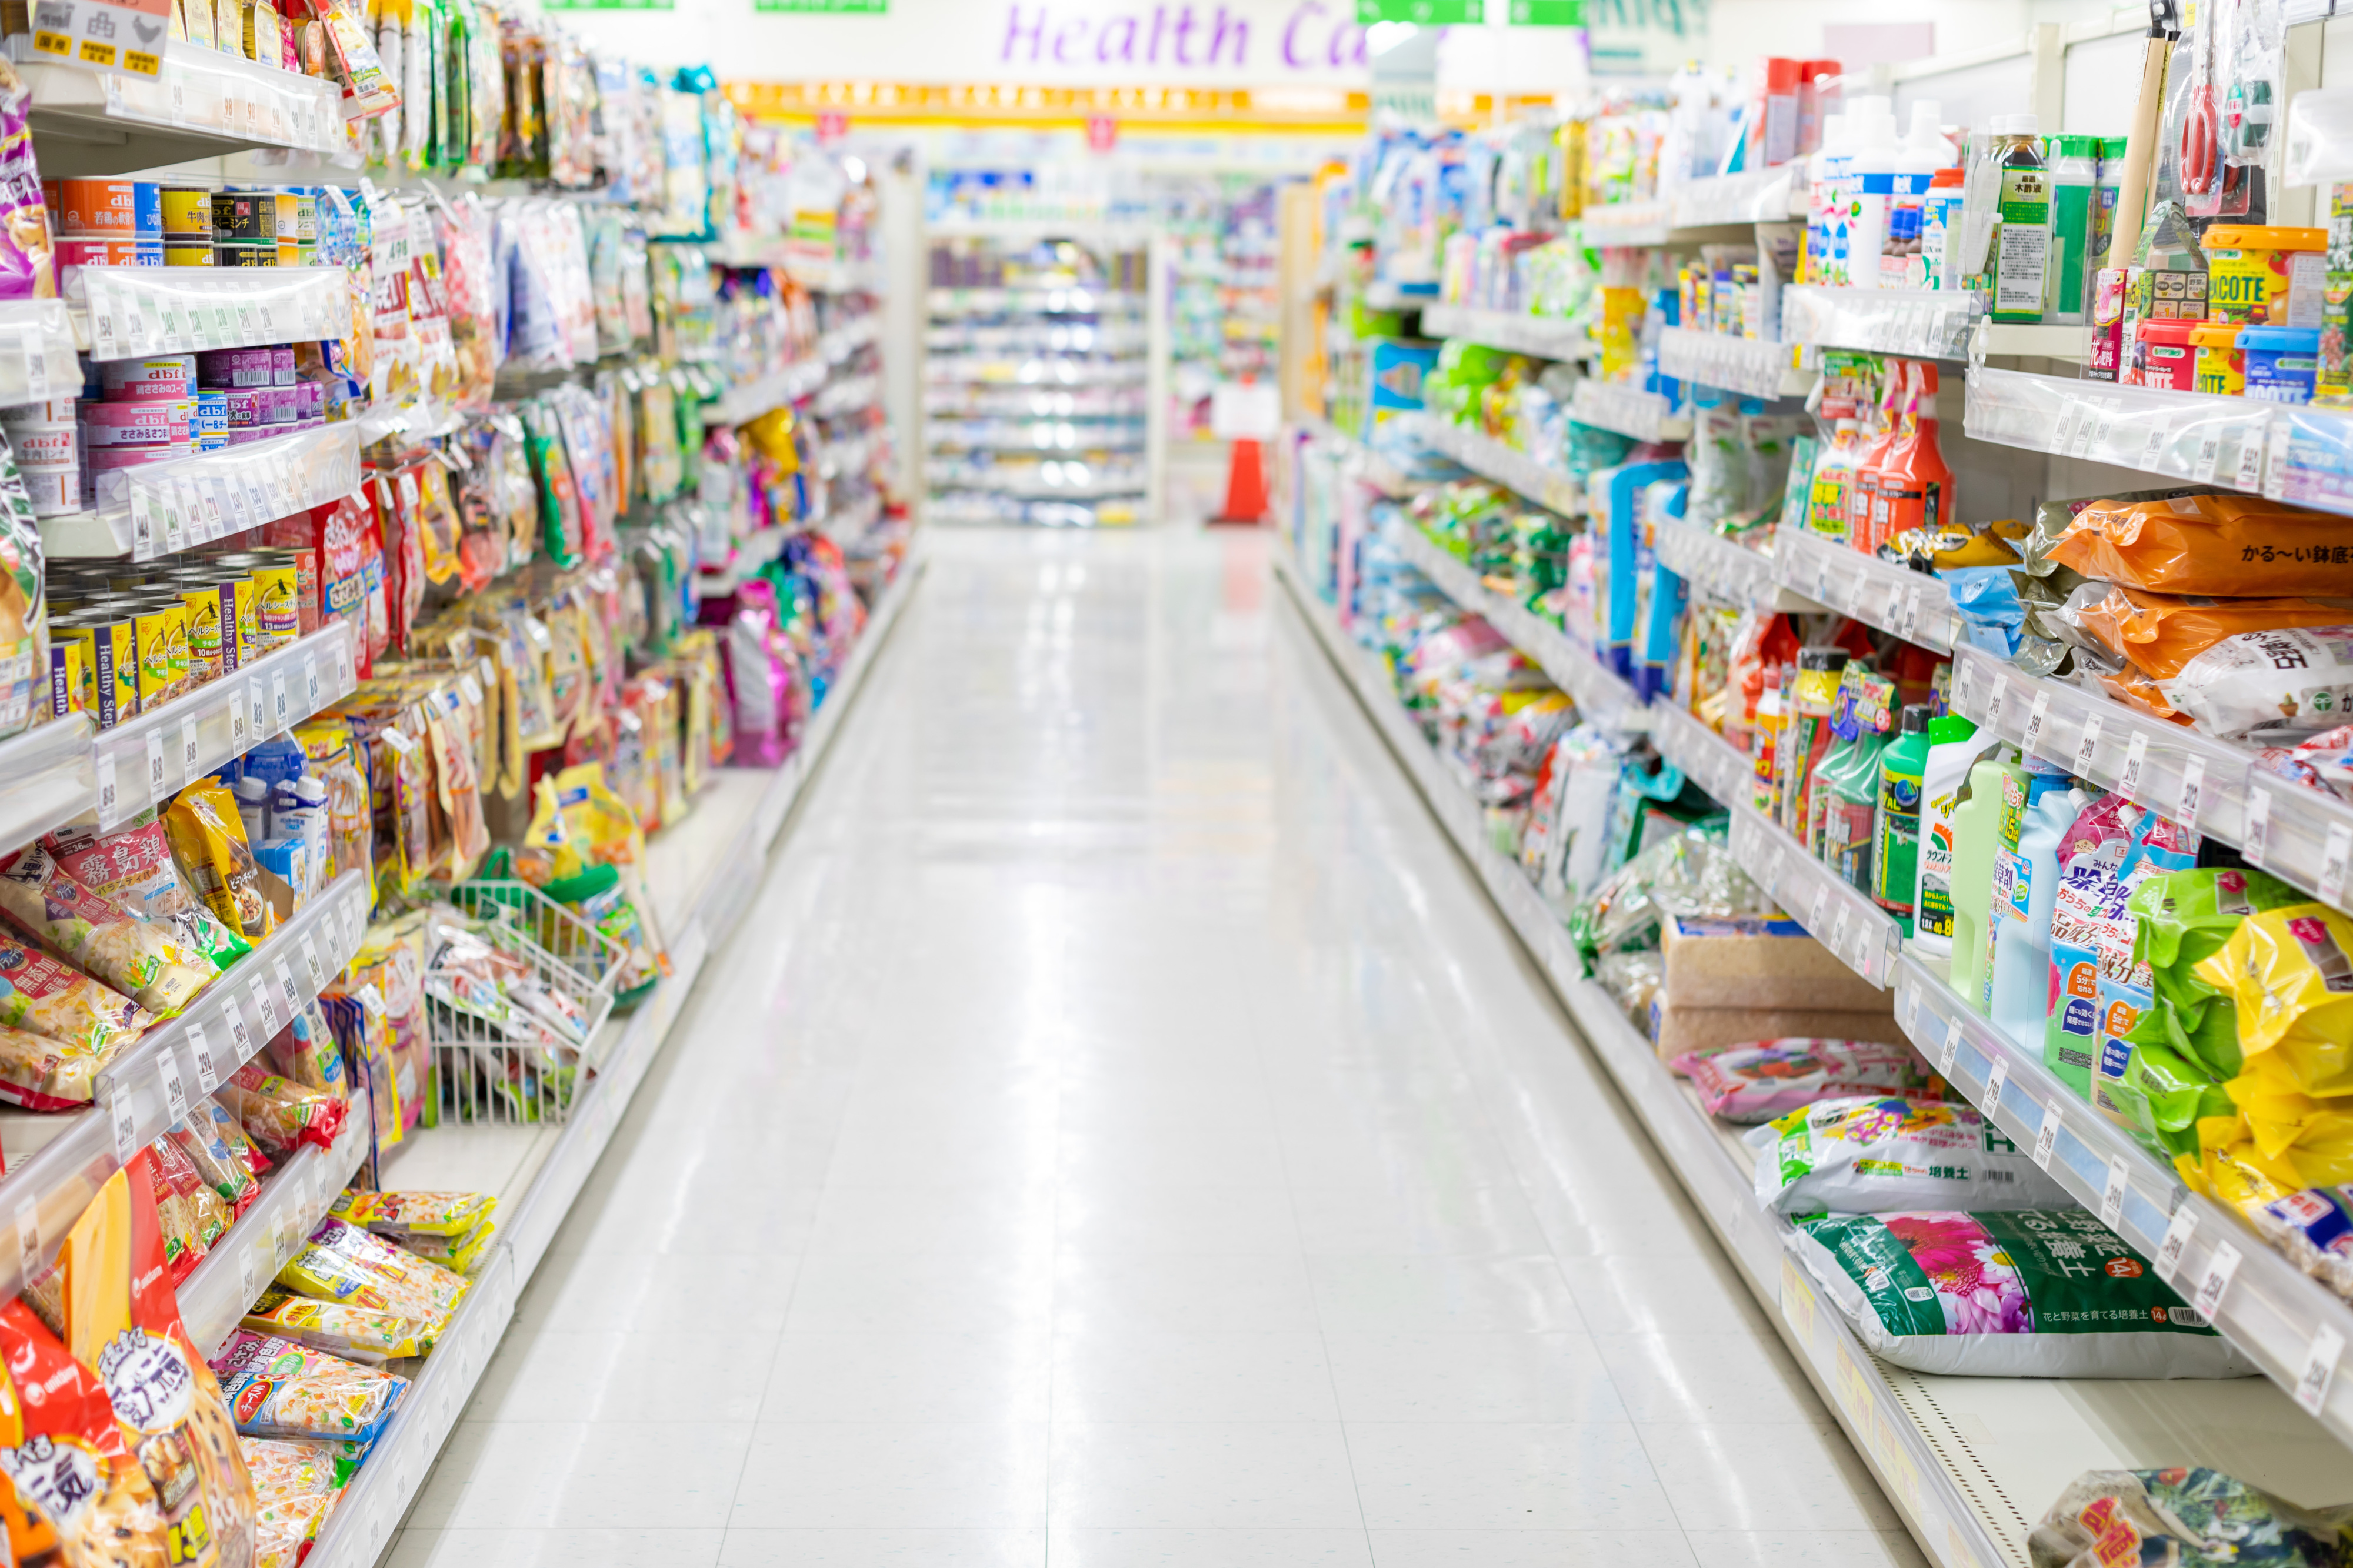
[{"label": "red bag cut off at the bottom left corner", "polygon": [[[172,1561],[155,1483],[125,1446],[106,1384],[24,1302],[0,1304],[0,1519],[26,1568],[153,1568]],[[165,1469],[167,1479],[179,1467]],[[54,1559],[47,1554],[56,1552]]]}]

